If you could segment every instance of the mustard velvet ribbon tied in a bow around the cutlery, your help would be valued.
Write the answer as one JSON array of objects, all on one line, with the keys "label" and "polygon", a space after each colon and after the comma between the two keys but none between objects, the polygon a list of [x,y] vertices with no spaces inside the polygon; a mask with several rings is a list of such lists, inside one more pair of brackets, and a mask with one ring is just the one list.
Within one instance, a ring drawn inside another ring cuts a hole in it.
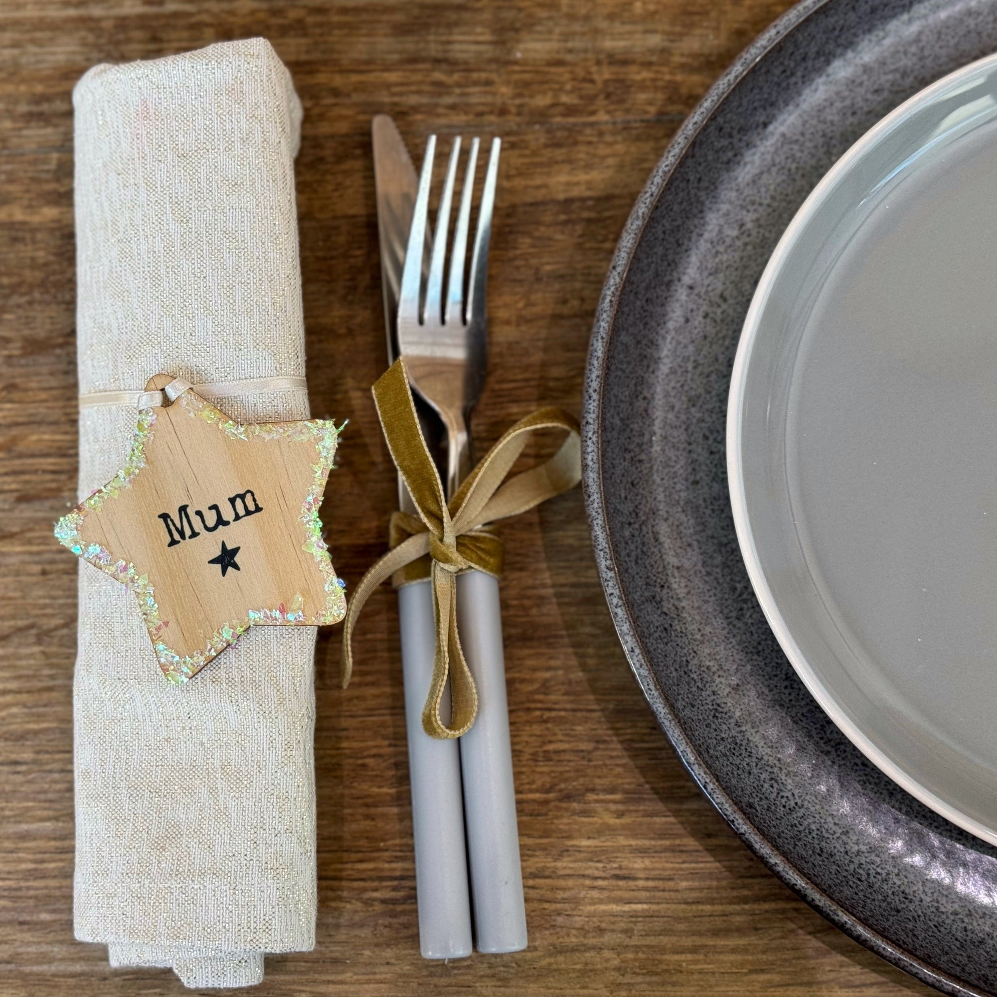
[{"label": "mustard velvet ribbon tied in a bow around the cutlery", "polygon": [[[477,569],[498,577],[502,544],[487,524],[518,515],[581,481],[578,422],[555,408],[538,409],[520,419],[485,455],[448,504],[419,426],[409,376],[401,359],[381,376],[373,394],[391,458],[405,480],[418,515],[392,515],[391,549],[367,571],[353,593],[343,625],[343,686],[349,683],[353,670],[353,627],[371,593],[389,577],[396,585],[429,577],[437,632],[423,729],[433,738],[459,738],[475,722],[478,690],[457,632],[457,575]],[[506,480],[530,436],[550,429],[567,434],[556,453]],[[449,725],[440,716],[440,700],[448,677]]]}]

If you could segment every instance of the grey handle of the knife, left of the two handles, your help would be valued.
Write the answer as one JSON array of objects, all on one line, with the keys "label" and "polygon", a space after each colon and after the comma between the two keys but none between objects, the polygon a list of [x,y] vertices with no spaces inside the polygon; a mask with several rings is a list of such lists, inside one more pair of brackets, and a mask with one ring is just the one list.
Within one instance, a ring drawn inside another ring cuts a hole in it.
[{"label": "grey handle of the knife, left of the two handles", "polygon": [[[433,676],[436,624],[427,579],[398,590],[409,739],[412,834],[416,850],[419,946],[425,959],[471,955],[471,902],[457,741],[437,741],[423,730],[423,704]],[[441,704],[450,709],[450,693]]]}]

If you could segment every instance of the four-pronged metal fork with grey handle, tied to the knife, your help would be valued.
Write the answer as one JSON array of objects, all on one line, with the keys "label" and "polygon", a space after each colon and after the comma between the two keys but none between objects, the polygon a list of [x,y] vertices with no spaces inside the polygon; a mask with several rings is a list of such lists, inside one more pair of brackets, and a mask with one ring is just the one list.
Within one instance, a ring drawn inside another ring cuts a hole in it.
[{"label": "four-pronged metal fork with grey handle, tied to the knife", "polygon": [[[424,288],[423,247],[436,157],[436,136],[430,136],[399,293],[399,352],[405,357],[412,386],[439,413],[447,433],[448,498],[453,498],[471,468],[468,422],[481,397],[488,361],[485,289],[500,141],[492,141],[471,268],[467,271],[479,148],[479,140],[473,139],[451,240],[450,215],[461,156],[460,137],[455,138],[451,147]],[[476,945],[481,952],[515,952],[526,947],[526,912],[515,819],[498,580],[483,571],[468,571],[458,577],[457,584],[458,630],[479,693],[478,718],[460,740]]]}]

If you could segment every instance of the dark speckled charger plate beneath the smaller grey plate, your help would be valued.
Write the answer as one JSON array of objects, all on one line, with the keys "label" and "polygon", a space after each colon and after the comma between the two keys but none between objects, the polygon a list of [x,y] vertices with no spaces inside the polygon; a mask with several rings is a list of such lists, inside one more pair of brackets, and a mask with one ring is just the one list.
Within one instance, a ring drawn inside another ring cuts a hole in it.
[{"label": "dark speckled charger plate beneath the smaller grey plate", "polygon": [[585,487],[620,639],[718,810],[847,934],[997,993],[997,849],[882,775],[769,630],[725,471],[731,367],[780,235],[845,150],[997,50],[995,0],[805,0],[710,91],[641,194],[589,354]]}]

